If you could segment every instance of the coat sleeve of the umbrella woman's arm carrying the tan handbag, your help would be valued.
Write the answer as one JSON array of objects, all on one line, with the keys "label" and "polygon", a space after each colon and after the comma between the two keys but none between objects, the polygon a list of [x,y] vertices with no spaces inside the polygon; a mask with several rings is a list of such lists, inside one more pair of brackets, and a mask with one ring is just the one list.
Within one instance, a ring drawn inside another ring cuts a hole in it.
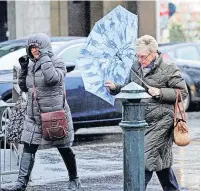
[{"label": "coat sleeve of the umbrella woman's arm carrying the tan handbag", "polygon": [[176,89],[181,91],[183,99],[188,95],[188,90],[185,80],[181,76],[179,68],[171,64],[167,70],[167,88],[161,88],[160,100],[169,103],[175,103]]}]

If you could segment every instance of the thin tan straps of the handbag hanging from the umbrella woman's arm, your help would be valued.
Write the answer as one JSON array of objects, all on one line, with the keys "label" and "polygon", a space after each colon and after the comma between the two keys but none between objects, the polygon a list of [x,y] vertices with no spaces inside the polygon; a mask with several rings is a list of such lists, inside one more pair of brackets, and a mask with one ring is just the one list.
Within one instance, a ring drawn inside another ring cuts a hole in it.
[{"label": "thin tan straps of the handbag hanging from the umbrella woman's arm", "polygon": [[[181,102],[179,102],[179,100]],[[186,122],[186,112],[184,109],[184,102],[181,95],[181,91],[179,89],[176,89],[176,102],[174,106],[174,122],[176,123],[177,119],[179,118],[179,114],[183,121]]]}]

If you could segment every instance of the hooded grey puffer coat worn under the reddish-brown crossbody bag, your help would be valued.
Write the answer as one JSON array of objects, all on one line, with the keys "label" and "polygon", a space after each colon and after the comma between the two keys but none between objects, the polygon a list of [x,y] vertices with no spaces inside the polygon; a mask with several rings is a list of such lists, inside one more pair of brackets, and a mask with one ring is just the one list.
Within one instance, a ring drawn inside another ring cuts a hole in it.
[{"label": "hooded grey puffer coat worn under the reddish-brown crossbody bag", "polygon": [[[37,43],[41,54],[45,55],[38,61],[30,53],[30,45]],[[45,141],[42,137],[40,112],[34,101],[33,82],[36,87],[37,98],[42,112],[51,112],[63,109],[64,77],[66,68],[64,63],[53,55],[51,41],[43,33],[37,33],[28,40],[27,54],[30,56],[27,69],[21,69],[19,86],[27,92],[27,114],[24,121],[24,130],[21,141],[29,144],[68,147],[74,140],[74,130],[70,108],[65,99],[65,111],[68,121],[68,137],[57,141]]]}]

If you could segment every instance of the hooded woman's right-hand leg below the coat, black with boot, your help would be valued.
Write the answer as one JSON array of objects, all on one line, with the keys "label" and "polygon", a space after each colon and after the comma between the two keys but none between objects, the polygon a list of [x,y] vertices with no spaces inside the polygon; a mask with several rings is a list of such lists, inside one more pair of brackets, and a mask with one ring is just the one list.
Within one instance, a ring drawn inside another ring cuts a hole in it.
[{"label": "hooded woman's right-hand leg below the coat, black with boot", "polygon": [[68,170],[68,190],[78,191],[81,188],[81,183],[77,175],[75,154],[73,153],[71,148],[58,148],[58,150]]}]

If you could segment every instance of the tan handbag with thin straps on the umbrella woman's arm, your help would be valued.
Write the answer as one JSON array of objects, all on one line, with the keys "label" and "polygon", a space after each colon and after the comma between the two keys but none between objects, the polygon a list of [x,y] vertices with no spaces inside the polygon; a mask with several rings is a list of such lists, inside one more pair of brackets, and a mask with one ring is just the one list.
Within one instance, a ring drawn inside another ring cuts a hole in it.
[{"label": "tan handbag with thin straps on the umbrella woman's arm", "polygon": [[176,102],[174,107],[174,142],[178,146],[186,146],[190,143],[183,98],[181,91],[178,89],[176,90]]}]

